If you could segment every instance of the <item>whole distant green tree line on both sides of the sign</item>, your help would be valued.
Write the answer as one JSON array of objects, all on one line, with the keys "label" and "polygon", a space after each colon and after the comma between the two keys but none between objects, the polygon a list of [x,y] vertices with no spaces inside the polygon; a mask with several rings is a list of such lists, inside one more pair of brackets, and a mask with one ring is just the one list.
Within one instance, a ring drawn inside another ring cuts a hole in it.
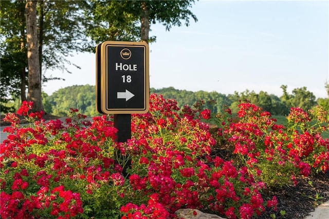
[{"label": "whole distant green tree line on both sides of the sign", "polygon": [[[199,100],[205,101],[205,107],[212,113],[220,113],[223,108],[229,107],[233,113],[237,112],[238,105],[243,101],[249,101],[272,115],[287,115],[291,107],[301,107],[307,111],[317,105],[324,107],[329,112],[329,86],[326,84],[328,98],[318,98],[306,87],[296,88],[291,94],[287,92],[287,86],[281,86],[282,96],[260,91],[246,90],[234,92],[234,94],[222,94],[216,91],[187,91],[178,90],[174,87],[155,89],[151,88],[150,93],[162,94],[164,98],[173,98],[177,101],[179,108],[184,105],[193,106]],[[66,116],[70,108],[79,109],[79,112],[87,116],[100,115],[96,110],[95,86],[75,85],[62,88],[47,95],[43,93],[43,105],[46,113],[58,116]]]}]

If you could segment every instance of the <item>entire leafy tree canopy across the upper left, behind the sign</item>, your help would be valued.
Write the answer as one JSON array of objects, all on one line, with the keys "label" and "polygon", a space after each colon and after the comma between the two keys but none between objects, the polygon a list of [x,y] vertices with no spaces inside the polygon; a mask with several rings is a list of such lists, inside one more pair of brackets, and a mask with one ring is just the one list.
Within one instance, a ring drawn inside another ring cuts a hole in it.
[{"label": "entire leafy tree canopy across the upper left, behind the sign", "polygon": [[[155,37],[149,37],[151,23],[163,23],[169,30],[182,23],[189,25],[190,17],[197,21],[189,10],[192,3],[194,0],[1,1],[1,62],[13,63],[1,67],[1,83],[5,85],[0,90],[2,110],[11,110],[5,104],[11,97],[20,96],[24,101],[27,86],[29,99],[38,102],[35,106],[42,109],[41,83],[63,79],[46,76],[44,70],[69,72],[67,65],[75,64],[69,62],[68,56],[81,51],[95,52],[95,46],[104,41],[152,42]],[[27,10],[29,8],[33,10]],[[29,41],[25,17],[27,21],[35,21],[33,28],[37,30]],[[28,50],[33,50],[32,58],[28,56]],[[39,61],[33,58],[38,53]],[[36,82],[37,77],[40,82]]]}]

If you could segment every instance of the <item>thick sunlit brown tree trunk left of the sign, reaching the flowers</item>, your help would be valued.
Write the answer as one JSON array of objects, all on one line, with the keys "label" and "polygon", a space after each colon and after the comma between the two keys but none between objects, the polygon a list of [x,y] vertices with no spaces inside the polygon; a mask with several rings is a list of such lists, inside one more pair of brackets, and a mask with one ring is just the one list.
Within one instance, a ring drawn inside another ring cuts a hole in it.
[{"label": "thick sunlit brown tree trunk left of the sign, reaching the flowers", "polygon": [[26,33],[28,65],[28,101],[33,102],[33,111],[43,110],[41,97],[38,31],[36,26],[36,1],[26,0]]}]

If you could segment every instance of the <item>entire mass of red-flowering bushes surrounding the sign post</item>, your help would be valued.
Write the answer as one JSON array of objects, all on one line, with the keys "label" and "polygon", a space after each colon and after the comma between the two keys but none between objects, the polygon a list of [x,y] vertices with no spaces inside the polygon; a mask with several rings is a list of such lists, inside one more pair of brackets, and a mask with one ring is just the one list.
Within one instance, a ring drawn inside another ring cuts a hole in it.
[{"label": "entire mass of red-flowering bushes surrounding the sign post", "polygon": [[[111,116],[90,121],[71,109],[65,122],[45,122],[24,102],[17,114],[28,126],[15,114],[5,118],[11,126],[1,144],[1,217],[173,218],[180,208],[194,208],[251,218],[276,210],[276,197],[261,195],[267,186],[327,171],[325,127],[314,123],[325,122],[320,109],[313,117],[292,109],[286,128],[241,104],[238,117],[229,109],[217,116],[214,136],[203,104],[178,109],[174,99],[152,94],[150,111],[132,115],[131,139],[118,143]],[[219,141],[232,145],[237,158],[213,155]]]}]

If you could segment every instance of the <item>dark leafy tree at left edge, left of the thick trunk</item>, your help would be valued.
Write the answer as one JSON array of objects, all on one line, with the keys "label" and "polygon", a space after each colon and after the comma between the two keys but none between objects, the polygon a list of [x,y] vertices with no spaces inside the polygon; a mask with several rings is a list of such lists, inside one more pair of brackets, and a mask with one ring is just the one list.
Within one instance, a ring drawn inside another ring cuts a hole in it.
[{"label": "dark leafy tree at left edge, left of the thick trunk", "polygon": [[5,106],[7,102],[19,96],[26,100],[26,18],[24,1],[0,1],[0,5],[0,106],[6,113],[14,110]]}]

